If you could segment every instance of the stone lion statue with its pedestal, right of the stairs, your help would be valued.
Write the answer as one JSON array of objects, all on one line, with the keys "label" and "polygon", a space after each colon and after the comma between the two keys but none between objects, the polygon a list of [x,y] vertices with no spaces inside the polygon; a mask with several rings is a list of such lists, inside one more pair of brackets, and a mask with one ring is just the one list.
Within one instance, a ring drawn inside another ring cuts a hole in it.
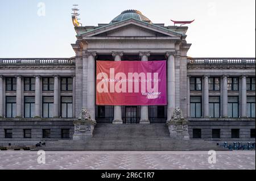
[{"label": "stone lion statue with its pedestal, right of the stairs", "polygon": [[184,119],[181,109],[176,108],[172,119],[167,122],[170,137],[175,140],[189,140],[188,125],[189,121]]}]

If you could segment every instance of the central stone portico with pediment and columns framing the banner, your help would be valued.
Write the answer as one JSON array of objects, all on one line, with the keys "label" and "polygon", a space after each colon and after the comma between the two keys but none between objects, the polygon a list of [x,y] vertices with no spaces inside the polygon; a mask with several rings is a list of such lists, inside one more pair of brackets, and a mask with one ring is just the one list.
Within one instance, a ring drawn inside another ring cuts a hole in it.
[{"label": "central stone portico with pediment and columns framing the banner", "polygon": [[[179,76],[181,68],[187,64],[187,61],[184,60],[182,62],[183,59],[180,57],[186,56],[188,49],[185,49],[185,47],[190,46],[190,44],[184,43],[186,29],[181,28],[180,32],[164,30],[154,24],[130,18],[121,22],[110,23],[109,26],[89,32],[77,31],[80,36],[78,36],[78,42],[72,44],[72,46],[77,54],[82,54],[83,71],[76,71],[76,77],[82,77],[83,82],[86,83],[81,87],[83,98],[82,102],[76,102],[76,109],[86,106],[92,115],[97,112],[95,110],[96,60],[122,61],[127,58],[131,61],[138,61],[139,59],[141,61],[151,61],[154,58],[158,58],[158,60],[166,60],[168,62],[167,120],[171,119],[175,106],[187,110],[186,104],[179,104],[182,101],[180,93],[175,94],[180,90],[179,86],[175,87],[176,82],[179,83],[187,79]],[[104,41],[104,44],[102,44],[102,41]],[[77,47],[80,47],[80,50]],[[79,53],[79,51],[84,53]],[[162,57],[162,59],[159,59],[159,57]],[[176,60],[176,57],[178,57],[177,60],[179,61]],[[179,66],[175,66],[176,62],[178,62]],[[76,82],[76,84],[76,87],[78,87],[77,94],[79,94],[80,82]],[[113,124],[122,124],[122,117],[125,116],[125,112],[122,112],[122,107],[114,106],[113,110]],[[148,106],[140,106],[140,115],[140,124],[150,124]]]}]

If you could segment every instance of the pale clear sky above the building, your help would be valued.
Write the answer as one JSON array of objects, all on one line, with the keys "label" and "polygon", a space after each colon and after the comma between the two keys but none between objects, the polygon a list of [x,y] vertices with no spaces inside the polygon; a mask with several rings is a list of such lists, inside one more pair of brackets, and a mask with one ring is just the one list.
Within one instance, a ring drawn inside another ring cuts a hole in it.
[{"label": "pale clear sky above the building", "polygon": [[[39,2],[45,16],[38,15]],[[188,56],[255,57],[255,0],[1,0],[0,57],[75,56],[73,4],[83,26],[109,23],[127,9],[166,26],[173,25],[170,19],[196,19],[187,32]]]}]

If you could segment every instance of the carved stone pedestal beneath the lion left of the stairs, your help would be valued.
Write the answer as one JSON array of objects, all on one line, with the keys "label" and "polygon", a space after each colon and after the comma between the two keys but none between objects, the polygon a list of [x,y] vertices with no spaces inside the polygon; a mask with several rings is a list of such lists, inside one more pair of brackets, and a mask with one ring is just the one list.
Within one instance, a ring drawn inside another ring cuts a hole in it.
[{"label": "carved stone pedestal beneath the lion left of the stairs", "polygon": [[93,120],[76,120],[73,122],[75,126],[75,133],[73,140],[87,140],[93,137],[93,130],[96,121]]}]

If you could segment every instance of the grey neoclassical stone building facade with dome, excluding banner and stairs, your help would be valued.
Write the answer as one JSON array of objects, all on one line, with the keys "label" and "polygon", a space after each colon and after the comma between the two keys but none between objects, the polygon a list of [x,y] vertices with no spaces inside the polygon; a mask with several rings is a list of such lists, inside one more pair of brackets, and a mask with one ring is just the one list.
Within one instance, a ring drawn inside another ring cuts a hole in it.
[{"label": "grey neoclassical stone building facade with dome, excluding banner and stairs", "polygon": [[[192,139],[255,141],[255,58],[189,57],[188,27],[135,10],[75,30],[75,57],[0,58],[0,142],[72,139],[82,107],[98,124],[166,123],[179,107]],[[167,105],[96,104],[96,61],[163,60]]]}]

